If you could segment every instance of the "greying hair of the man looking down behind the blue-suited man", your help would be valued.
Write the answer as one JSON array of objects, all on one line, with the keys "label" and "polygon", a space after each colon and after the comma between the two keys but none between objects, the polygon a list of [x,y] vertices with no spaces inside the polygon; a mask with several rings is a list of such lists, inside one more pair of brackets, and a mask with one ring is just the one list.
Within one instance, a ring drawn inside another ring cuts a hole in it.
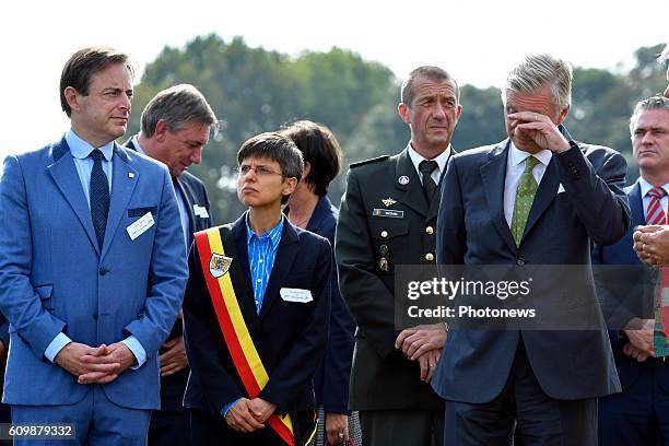
[{"label": "greying hair of the man looking down behind the blue-suited man", "polygon": [[190,122],[202,122],[209,128],[219,128],[216,115],[207,99],[190,84],[179,84],[163,90],[146,104],[141,117],[141,130],[146,138],[153,137],[160,121],[169,131],[178,131]]}]

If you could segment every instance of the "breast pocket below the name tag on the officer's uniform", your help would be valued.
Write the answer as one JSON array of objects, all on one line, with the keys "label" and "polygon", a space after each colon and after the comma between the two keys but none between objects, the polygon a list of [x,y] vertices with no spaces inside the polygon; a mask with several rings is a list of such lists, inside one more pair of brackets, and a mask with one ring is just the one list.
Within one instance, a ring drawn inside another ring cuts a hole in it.
[{"label": "breast pocket below the name tag on the officer's uniform", "polygon": [[401,253],[412,248],[408,246],[407,237],[409,221],[373,218],[369,220],[369,232],[376,271],[380,274],[392,274],[395,263],[401,260]]}]

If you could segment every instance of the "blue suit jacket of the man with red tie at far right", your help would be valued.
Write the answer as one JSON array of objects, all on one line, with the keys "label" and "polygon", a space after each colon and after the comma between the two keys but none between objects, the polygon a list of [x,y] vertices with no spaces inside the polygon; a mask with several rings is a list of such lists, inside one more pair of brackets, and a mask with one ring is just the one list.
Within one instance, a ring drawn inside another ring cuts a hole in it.
[{"label": "blue suit jacket of the man with red tie at far right", "polygon": [[[597,292],[602,305],[609,309],[608,318],[612,319],[611,324],[614,328],[623,327],[633,317],[654,318],[652,304],[657,281],[655,271],[645,268],[632,248],[634,227],[646,224],[638,180],[625,188],[625,192],[630,198],[632,226],[620,242],[613,245],[597,245],[592,253],[592,265],[637,267],[629,271],[617,272],[618,278],[612,278],[611,273],[607,273],[605,274],[607,280],[598,283]],[[621,273],[625,273],[626,278],[621,280]],[[632,280],[630,280],[630,274],[634,275]],[[613,281],[615,281],[615,284],[612,284]],[[621,303],[625,303],[625,298],[630,297],[632,301],[630,305],[621,305]],[[609,334],[620,383],[623,388],[627,388],[636,382],[644,367],[653,366],[655,360],[648,359],[639,363],[626,356],[622,351],[623,345],[627,342],[626,336],[618,329],[610,330]],[[666,383],[667,388],[665,390],[669,391],[669,368],[658,367],[656,373],[666,375],[664,379],[658,379],[658,382]]]}]

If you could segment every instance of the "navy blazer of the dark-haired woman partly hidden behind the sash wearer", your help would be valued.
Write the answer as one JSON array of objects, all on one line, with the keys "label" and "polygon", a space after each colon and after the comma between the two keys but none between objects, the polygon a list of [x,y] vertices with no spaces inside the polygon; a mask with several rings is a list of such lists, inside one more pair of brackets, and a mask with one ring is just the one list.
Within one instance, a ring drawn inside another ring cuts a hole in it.
[{"label": "navy blazer of the dark-haired woman partly hidden behind the sash wearer", "polygon": [[[285,211],[287,213],[290,209],[286,207]],[[326,237],[330,245],[334,246],[338,218],[339,210],[332,206],[328,197],[320,197],[306,230]],[[314,375],[316,403],[322,404],[326,412],[350,413],[349,382],[353,362],[355,320],[339,292],[336,270],[332,271],[330,296],[330,328],[326,355]]]}]

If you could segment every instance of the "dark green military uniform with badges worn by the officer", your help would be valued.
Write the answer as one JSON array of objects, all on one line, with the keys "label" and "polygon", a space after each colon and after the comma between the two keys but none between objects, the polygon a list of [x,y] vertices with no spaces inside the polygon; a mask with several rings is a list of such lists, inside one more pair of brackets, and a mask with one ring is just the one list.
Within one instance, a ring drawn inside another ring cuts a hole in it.
[{"label": "dark green military uniform with badges worn by the officer", "polygon": [[[369,411],[399,411],[397,423],[375,427],[392,427],[384,435],[397,445],[421,444],[416,413],[443,418],[443,400],[420,379],[419,363],[395,349],[396,266],[435,263],[439,190],[429,207],[408,148],[352,164],[348,173],[334,246],[341,294],[357,324],[350,404],[361,411],[365,445],[382,443],[365,432]],[[413,425],[403,429],[404,422]]]}]

